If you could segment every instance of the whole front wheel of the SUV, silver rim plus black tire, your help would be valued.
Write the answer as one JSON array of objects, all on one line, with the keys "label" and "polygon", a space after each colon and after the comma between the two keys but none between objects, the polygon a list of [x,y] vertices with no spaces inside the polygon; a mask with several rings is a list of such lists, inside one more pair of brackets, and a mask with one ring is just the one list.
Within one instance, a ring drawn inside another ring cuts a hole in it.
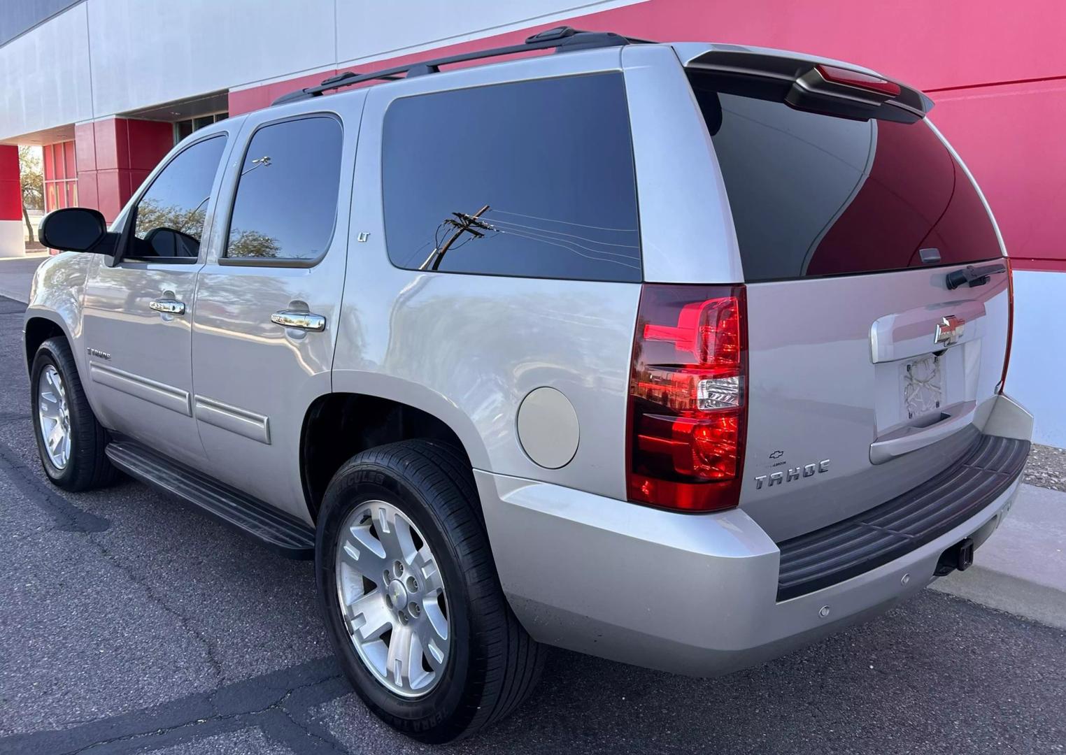
[{"label": "whole front wheel of the SUV, silver rim plus black tire", "polygon": [[70,491],[112,483],[117,472],[103,453],[107,431],[88,406],[64,339],[48,339],[37,348],[30,396],[37,452],[48,478]]}]

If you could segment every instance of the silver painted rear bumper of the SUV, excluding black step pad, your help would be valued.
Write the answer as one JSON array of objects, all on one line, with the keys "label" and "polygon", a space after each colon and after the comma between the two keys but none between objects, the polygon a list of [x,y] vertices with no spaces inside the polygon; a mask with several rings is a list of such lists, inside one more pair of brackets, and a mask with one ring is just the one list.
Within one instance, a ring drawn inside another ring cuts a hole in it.
[{"label": "silver painted rear bumper of the SUV, excluding black step pad", "polygon": [[504,593],[534,639],[693,676],[759,663],[881,613],[980,546],[1019,479],[898,558],[778,601],[780,549],[743,510],[690,515],[475,473]]}]

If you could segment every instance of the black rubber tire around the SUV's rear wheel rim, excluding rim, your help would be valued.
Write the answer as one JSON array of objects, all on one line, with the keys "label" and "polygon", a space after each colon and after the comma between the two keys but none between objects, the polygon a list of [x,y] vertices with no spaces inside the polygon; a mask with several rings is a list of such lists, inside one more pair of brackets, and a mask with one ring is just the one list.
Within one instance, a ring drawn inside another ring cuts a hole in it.
[{"label": "black rubber tire around the SUV's rear wheel rim, excluding rim", "polygon": [[[415,523],[447,586],[452,651],[439,683],[414,700],[390,692],[364,664],[339,608],[338,530],[371,499],[392,504]],[[397,731],[430,743],[468,737],[510,715],[536,685],[546,649],[530,638],[503,596],[473,475],[452,447],[403,441],[344,463],[322,503],[314,561],[320,608],[344,673],[367,707]]]}]

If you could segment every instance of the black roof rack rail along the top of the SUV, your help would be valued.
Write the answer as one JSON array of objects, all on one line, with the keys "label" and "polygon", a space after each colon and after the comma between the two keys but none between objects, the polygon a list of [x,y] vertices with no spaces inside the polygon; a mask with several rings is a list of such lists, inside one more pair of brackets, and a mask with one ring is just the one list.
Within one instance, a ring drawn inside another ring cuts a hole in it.
[{"label": "black roof rack rail along the top of the SUV", "polygon": [[[339,89],[343,86],[352,86],[365,81],[392,81],[395,79],[410,78],[413,76],[424,76],[425,73],[437,73],[440,66],[465,61],[475,61],[482,58],[498,58],[500,55],[513,55],[518,52],[529,52],[530,50],[546,50],[554,48],[555,52],[569,52],[571,50],[587,50],[594,47],[621,47],[631,44],[649,44],[648,39],[636,39],[626,37],[614,32],[586,32],[571,27],[555,27],[530,36],[521,45],[511,45],[508,47],[497,47],[489,50],[474,50],[472,52],[461,52],[457,55],[448,58],[437,58],[432,61],[419,61],[408,63],[393,68],[359,73],[346,70],[343,73],[332,76],[325,79],[318,86],[307,86],[281,95],[271,104],[281,104],[284,102],[295,102],[306,100],[311,97],[319,97],[329,89]],[[400,76],[403,73],[404,76]]]}]

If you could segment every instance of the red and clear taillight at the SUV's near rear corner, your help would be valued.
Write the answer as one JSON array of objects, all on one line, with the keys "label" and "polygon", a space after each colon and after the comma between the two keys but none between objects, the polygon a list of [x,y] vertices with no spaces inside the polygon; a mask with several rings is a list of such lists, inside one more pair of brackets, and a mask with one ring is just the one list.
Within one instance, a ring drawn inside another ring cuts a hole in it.
[{"label": "red and clear taillight at the SUV's near rear corner", "polygon": [[630,500],[737,506],[746,377],[743,285],[644,285],[629,383]]}]

